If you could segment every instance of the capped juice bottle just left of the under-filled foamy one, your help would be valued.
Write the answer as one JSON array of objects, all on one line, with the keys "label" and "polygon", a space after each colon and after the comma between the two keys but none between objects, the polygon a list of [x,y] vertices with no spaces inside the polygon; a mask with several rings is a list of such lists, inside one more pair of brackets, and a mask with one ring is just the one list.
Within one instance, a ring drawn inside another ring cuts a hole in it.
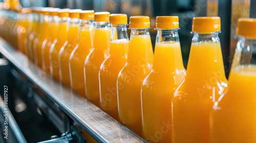
[{"label": "capped juice bottle just left of the under-filled foamy one", "polygon": [[86,98],[100,107],[99,101],[99,67],[108,55],[110,43],[109,12],[94,14],[95,37],[93,47],[84,62],[84,81]]}]

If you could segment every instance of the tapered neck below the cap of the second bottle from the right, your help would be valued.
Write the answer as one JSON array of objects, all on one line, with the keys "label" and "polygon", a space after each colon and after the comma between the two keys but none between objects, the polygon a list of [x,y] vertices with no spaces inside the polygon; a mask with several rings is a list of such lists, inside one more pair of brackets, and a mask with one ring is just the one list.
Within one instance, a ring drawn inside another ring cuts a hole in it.
[{"label": "tapered neck below the cap of the second bottle from the right", "polygon": [[209,81],[217,75],[218,82],[221,80],[226,82],[218,33],[194,32],[187,65],[188,79]]}]

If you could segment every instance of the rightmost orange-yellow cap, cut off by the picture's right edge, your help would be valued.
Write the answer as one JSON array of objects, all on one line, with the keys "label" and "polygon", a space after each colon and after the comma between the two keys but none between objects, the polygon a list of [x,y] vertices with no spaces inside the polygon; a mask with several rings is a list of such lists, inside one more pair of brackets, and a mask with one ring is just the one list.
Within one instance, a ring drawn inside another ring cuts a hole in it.
[{"label": "rightmost orange-yellow cap, cut off by the picture's right edge", "polygon": [[237,35],[241,35],[246,38],[256,39],[256,19],[239,18],[236,32]]}]

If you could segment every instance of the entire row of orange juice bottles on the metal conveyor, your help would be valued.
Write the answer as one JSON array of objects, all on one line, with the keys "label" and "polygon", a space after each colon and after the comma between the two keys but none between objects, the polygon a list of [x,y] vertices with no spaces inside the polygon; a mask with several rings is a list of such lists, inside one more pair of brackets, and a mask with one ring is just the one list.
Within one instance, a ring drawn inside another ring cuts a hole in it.
[{"label": "entire row of orange juice bottles on the metal conveyor", "polygon": [[18,26],[2,16],[2,36],[11,42],[14,30],[31,61],[147,141],[256,142],[256,19],[238,20],[228,82],[220,17],[193,18],[185,70],[177,16],[156,17],[153,54],[148,16],[130,17],[129,40],[125,14],[35,8],[21,15]]}]

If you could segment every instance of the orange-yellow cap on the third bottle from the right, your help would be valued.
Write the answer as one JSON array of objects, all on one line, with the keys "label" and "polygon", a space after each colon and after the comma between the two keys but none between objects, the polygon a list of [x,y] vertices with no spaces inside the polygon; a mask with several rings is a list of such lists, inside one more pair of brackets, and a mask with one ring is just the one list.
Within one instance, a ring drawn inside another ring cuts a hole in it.
[{"label": "orange-yellow cap on the third bottle from the right", "polygon": [[157,16],[156,28],[177,29],[179,28],[178,16]]}]

